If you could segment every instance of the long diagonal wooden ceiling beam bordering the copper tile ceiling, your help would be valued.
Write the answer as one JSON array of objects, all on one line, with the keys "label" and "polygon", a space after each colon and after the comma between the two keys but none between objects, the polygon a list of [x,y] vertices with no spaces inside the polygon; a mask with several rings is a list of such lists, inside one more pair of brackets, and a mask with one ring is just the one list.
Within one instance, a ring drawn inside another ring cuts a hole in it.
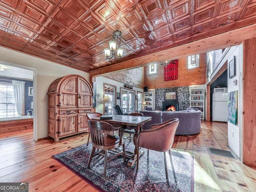
[{"label": "long diagonal wooden ceiling beam bordering the copper tile ceiling", "polygon": [[205,53],[208,51],[218,50],[240,44],[243,40],[256,37],[256,24],[243,28],[197,40],[184,45],[176,46],[167,50],[149,54],[125,62],[121,62],[112,66],[100,68],[90,72],[90,79],[94,76],[102,74],[110,74],[122,70],[128,70],[146,66],[152,62],[163,60],[174,60],[184,58],[193,54]]}]

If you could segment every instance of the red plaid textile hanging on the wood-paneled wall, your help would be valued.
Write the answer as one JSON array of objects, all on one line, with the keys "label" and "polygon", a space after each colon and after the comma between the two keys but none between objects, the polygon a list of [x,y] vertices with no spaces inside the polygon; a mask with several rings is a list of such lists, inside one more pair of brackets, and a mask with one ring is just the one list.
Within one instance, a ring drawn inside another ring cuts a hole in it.
[{"label": "red plaid textile hanging on the wood-paneled wall", "polygon": [[178,60],[168,61],[164,67],[164,81],[178,79]]}]

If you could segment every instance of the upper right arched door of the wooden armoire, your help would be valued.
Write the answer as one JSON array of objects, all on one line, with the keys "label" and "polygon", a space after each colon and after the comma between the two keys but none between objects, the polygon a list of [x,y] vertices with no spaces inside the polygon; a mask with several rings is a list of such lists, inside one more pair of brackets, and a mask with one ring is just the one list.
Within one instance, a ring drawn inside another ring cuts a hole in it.
[{"label": "upper right arched door of the wooden armoire", "polygon": [[91,107],[92,93],[88,82],[78,78],[78,107]]}]

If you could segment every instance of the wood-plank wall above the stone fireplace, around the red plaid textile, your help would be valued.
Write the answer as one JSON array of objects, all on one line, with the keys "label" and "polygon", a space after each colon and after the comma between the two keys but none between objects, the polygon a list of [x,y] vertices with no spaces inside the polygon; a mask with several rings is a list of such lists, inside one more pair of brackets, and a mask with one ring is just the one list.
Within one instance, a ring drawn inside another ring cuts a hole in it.
[{"label": "wood-plank wall above the stone fireplace, around the red plaid textile", "polygon": [[206,53],[200,54],[199,68],[187,69],[186,58],[178,59],[178,79],[164,81],[164,67],[157,67],[157,74],[148,75],[145,67],[145,86],[148,88],[168,88],[189,85],[200,85],[206,82]]}]

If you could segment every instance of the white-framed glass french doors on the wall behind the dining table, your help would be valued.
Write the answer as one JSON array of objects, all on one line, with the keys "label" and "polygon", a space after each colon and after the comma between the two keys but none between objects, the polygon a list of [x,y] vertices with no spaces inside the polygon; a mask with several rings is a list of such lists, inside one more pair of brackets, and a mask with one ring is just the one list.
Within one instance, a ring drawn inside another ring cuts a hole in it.
[{"label": "white-framed glass french doors on the wall behind the dining table", "polygon": [[121,88],[121,106],[125,113],[134,112],[135,91]]}]

